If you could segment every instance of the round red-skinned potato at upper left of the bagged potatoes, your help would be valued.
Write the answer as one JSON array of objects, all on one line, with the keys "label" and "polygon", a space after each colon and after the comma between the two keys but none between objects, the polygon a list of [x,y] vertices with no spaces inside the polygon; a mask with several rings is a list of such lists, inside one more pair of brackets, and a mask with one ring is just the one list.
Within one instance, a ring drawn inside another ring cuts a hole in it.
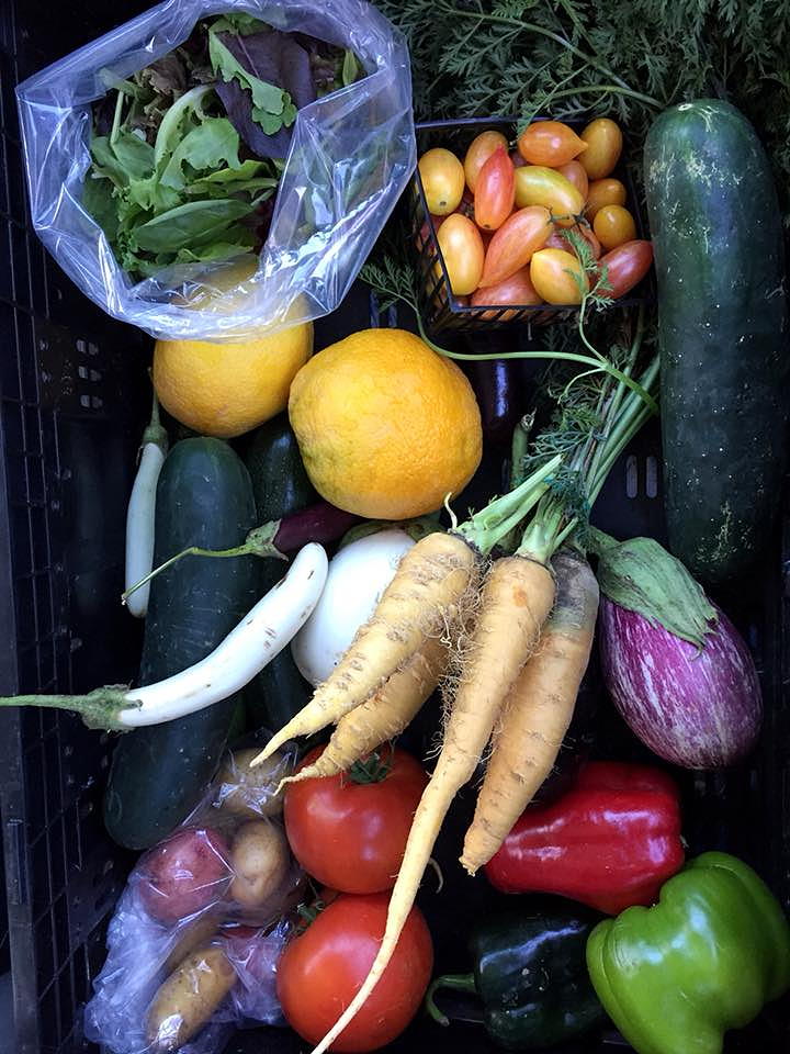
[{"label": "round red-skinned potato at upper left of the bagged potatoes", "polygon": [[229,849],[208,827],[184,828],[143,857],[137,886],[148,915],[173,926],[222,900],[230,885]]}]

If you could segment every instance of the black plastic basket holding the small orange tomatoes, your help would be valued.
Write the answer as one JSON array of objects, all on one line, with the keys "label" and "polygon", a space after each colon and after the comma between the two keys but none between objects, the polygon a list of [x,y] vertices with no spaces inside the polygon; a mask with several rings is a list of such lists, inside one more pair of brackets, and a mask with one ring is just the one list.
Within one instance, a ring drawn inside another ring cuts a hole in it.
[{"label": "black plastic basket holding the small orange tomatoes", "polygon": [[[538,121],[548,120],[537,117]],[[566,122],[580,131],[586,121]],[[424,121],[416,125],[417,153],[421,156],[435,146],[443,146],[463,158],[476,135],[486,128],[503,132],[509,142],[516,138],[518,117],[458,117],[448,121]],[[625,186],[625,204],[636,224],[637,237],[646,236],[647,225],[642,213],[633,179],[627,167],[618,165],[612,173]],[[419,169],[415,169],[406,194],[406,222],[416,254],[418,296],[424,325],[430,333],[445,330],[489,329],[506,325],[545,325],[569,318],[577,311],[575,304],[479,304],[471,306],[465,299],[452,292],[450,278],[439,249],[439,242],[430,222],[430,213]],[[652,296],[652,270],[628,296],[616,302],[617,310],[633,307]]]}]

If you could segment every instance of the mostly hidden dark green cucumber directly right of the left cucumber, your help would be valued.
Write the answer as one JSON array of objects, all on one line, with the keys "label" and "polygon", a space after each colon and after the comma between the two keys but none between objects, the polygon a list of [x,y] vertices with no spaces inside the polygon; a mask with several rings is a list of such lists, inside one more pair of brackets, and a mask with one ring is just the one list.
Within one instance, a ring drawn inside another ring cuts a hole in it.
[{"label": "mostly hidden dark green cucumber directly right of the left cucumber", "polygon": [[[287,414],[279,414],[256,429],[244,459],[252,478],[259,524],[282,519],[319,501],[302,463]],[[279,560],[260,561],[261,595],[282,578],[283,569]],[[312,688],[296,669],[291,649],[284,648],[246,689],[249,724],[275,731],[302,709],[311,695]]]}]

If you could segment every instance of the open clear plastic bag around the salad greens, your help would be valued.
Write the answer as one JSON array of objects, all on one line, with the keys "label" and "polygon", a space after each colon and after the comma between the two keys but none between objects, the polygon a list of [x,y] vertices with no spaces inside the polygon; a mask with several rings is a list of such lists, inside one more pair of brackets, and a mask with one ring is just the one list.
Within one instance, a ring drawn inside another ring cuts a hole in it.
[{"label": "open clear plastic bag around the salad greens", "polygon": [[[366,76],[300,110],[251,277],[239,279],[236,260],[135,283],[81,204],[91,103],[183,43],[201,19],[228,12],[352,48]],[[155,337],[234,340],[334,311],[416,162],[408,49],[363,0],[166,0],[16,92],[35,229],[91,300]]]}]

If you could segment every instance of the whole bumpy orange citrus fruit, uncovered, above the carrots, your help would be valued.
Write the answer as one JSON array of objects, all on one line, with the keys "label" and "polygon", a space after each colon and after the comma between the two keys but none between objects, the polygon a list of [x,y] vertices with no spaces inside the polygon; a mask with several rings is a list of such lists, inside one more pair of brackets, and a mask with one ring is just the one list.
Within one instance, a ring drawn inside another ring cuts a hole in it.
[{"label": "whole bumpy orange citrus fruit, uncovered, above the carrots", "polygon": [[291,426],[318,493],[371,519],[406,519],[459,494],[483,434],[461,370],[404,329],[363,329],[294,378]]}]

